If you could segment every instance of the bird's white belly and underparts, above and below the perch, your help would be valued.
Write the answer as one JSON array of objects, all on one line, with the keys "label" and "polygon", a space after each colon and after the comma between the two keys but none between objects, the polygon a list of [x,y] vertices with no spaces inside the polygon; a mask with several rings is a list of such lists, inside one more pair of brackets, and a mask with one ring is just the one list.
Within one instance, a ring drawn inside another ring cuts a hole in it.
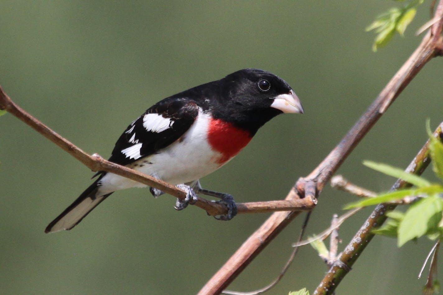
[{"label": "bird's white belly and underparts, above and below the perch", "polygon": [[[200,112],[196,122],[182,138],[161,149],[161,152],[141,158],[128,167],[173,185],[198,180],[214,172],[221,167],[221,164],[217,163],[221,154],[214,151],[208,144],[206,131],[209,122],[210,116]],[[99,193],[107,194],[133,187],[142,188],[146,185],[107,173],[101,179]]]}]

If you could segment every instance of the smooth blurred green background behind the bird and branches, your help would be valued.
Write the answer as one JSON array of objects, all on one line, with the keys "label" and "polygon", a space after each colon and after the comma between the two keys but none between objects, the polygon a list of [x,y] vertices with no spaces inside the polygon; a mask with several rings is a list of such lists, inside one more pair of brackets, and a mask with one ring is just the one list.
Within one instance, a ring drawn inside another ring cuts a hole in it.
[{"label": "smooth blurred green background behind the bird and branches", "polygon": [[[0,3],[0,83],[19,106],[88,153],[109,157],[124,128],[156,101],[238,69],[266,69],[298,94],[304,115],[265,125],[235,160],[202,179],[238,202],[281,199],[365,111],[419,44],[406,31],[377,54],[364,28],[393,1],[11,1]],[[441,120],[442,60],[431,61],[338,171],[387,190],[394,179],[361,165],[405,167]],[[120,191],[74,230],[44,234],[91,182],[90,172],[12,115],[0,118],[2,294],[194,294],[269,214],[218,222],[147,189]],[[426,174],[434,180],[431,173]],[[354,196],[326,187],[308,231],[319,233]],[[366,209],[341,227],[349,241]],[[288,226],[229,289],[268,284],[291,252],[302,218]],[[419,294],[431,241],[401,249],[376,237],[340,284],[340,294]],[[441,268],[440,268],[441,270]],[[323,278],[303,247],[268,294]],[[440,273],[443,273],[440,271]]]}]

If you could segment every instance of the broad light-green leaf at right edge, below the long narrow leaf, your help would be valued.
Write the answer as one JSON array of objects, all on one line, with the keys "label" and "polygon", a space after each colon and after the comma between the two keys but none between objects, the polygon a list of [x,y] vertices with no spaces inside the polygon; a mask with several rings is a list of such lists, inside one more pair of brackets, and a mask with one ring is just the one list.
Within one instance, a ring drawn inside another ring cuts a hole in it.
[{"label": "broad light-green leaf at right edge, below the long narrow leaf", "polygon": [[412,204],[398,227],[398,247],[435,230],[442,219],[442,210],[443,200],[437,194]]}]

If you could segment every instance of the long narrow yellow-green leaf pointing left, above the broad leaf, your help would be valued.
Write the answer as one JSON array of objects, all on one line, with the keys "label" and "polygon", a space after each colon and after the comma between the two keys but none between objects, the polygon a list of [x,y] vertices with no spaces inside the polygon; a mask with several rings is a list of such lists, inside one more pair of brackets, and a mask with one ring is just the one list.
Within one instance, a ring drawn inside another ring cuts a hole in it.
[{"label": "long narrow yellow-green leaf pointing left, above the broad leaf", "polygon": [[439,184],[433,184],[425,188],[411,188],[411,189],[398,190],[378,195],[375,198],[367,198],[358,202],[347,204],[343,209],[348,210],[356,207],[366,207],[366,206],[377,205],[380,203],[392,202],[403,199],[405,196],[408,195],[409,196],[434,195],[442,192],[443,192],[443,186]]}]

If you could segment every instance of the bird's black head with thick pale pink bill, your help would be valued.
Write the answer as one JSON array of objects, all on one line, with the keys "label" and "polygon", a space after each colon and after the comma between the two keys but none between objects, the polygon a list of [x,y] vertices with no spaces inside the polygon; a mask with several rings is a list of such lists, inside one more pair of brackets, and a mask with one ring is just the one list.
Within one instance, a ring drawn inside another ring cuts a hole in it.
[{"label": "bird's black head with thick pale pink bill", "polygon": [[252,134],[281,113],[303,113],[292,88],[280,77],[260,69],[242,69],[219,80],[220,107],[213,115]]}]

